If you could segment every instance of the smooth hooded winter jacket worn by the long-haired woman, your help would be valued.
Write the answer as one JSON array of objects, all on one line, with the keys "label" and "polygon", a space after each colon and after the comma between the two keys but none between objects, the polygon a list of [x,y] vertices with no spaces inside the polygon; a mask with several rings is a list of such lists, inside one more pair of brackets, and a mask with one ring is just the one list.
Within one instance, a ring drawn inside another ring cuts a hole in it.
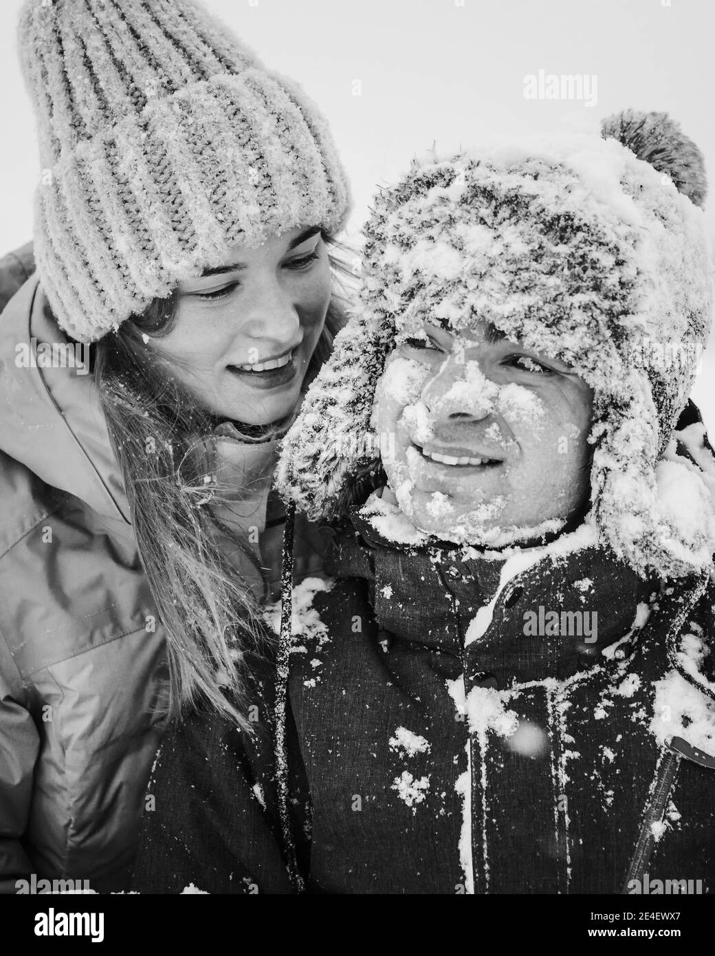
[{"label": "smooth hooded winter jacket worn by the long-haired woman", "polygon": [[[18,262],[32,270],[26,252],[0,264],[3,294],[23,278]],[[92,376],[75,361],[43,367],[42,343],[58,342],[86,359],[32,277],[0,318],[0,889],[9,893],[32,874],[89,880],[99,892],[126,885],[160,740],[162,624]],[[238,484],[253,451],[226,429],[215,444],[222,481]],[[283,518],[269,509],[269,486],[270,474],[251,523],[275,586]],[[303,573],[314,573],[319,534],[299,541]]]}]

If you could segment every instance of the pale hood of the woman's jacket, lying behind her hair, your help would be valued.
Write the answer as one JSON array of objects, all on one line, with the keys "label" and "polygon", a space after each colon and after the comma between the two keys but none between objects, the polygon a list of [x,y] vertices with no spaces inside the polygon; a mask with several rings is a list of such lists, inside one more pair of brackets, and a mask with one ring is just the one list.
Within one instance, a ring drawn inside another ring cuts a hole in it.
[{"label": "pale hood of the woman's jacket, lying behind her hair", "polygon": [[[53,346],[66,363],[38,367]],[[88,365],[76,364],[76,359],[88,363],[87,350],[75,348],[59,329],[33,275],[0,317],[0,449],[105,522],[128,526],[129,507],[98,391],[92,375],[85,374]]]}]

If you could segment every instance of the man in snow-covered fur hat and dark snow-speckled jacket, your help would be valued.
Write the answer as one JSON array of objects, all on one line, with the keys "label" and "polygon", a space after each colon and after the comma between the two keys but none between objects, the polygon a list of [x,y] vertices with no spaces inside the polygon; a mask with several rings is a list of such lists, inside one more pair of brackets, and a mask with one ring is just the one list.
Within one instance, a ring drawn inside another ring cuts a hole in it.
[{"label": "man in snow-covered fur hat and dark snow-speckled jacket", "polygon": [[337,537],[285,592],[275,760],[168,738],[138,889],[715,890],[715,465],[675,429],[703,194],[676,124],[626,113],[379,196],[278,470]]}]

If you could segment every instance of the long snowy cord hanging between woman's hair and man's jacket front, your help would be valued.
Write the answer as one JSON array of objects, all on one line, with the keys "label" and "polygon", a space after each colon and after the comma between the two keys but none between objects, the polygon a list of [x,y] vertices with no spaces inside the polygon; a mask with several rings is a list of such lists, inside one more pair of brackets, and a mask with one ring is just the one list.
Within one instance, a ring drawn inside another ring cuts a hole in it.
[{"label": "long snowy cord hanging between woman's hair and man's jacket front", "polygon": [[276,655],[274,712],[275,764],[278,790],[278,815],[286,853],[286,866],[293,891],[295,893],[303,893],[305,891],[305,881],[298,870],[295,841],[292,836],[291,815],[288,807],[288,746],[286,743],[286,706],[288,701],[289,660],[292,641],[292,551],[294,526],[295,504],[294,502],[290,502],[286,509],[286,527],[283,533],[283,554],[281,558],[281,619],[278,651]]}]

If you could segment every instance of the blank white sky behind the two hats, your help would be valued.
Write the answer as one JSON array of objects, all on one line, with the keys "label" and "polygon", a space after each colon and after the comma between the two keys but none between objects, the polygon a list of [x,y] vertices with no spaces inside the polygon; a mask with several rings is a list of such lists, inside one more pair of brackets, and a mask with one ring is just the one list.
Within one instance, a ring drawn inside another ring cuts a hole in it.
[{"label": "blank white sky behind the two hats", "polygon": [[[328,118],[351,178],[357,233],[378,185],[415,153],[490,134],[552,129],[568,113],[665,110],[704,152],[713,182],[713,0],[206,0]],[[32,234],[39,178],[30,100],[15,49],[20,0],[0,4],[0,251]],[[597,102],[524,98],[524,77],[596,75]],[[359,95],[355,95],[356,80]],[[715,431],[715,344],[694,397]]]}]

